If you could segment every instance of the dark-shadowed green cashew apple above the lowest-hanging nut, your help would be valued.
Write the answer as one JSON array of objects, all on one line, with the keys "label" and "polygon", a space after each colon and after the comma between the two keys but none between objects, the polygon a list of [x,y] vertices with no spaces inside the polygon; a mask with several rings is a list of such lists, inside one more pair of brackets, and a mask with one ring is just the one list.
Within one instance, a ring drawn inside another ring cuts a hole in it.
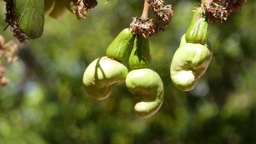
[{"label": "dark-shadowed green cashew apple above the lowest-hanging nut", "polygon": [[148,37],[135,36],[129,66],[132,70],[148,68],[151,64],[151,54]]}]

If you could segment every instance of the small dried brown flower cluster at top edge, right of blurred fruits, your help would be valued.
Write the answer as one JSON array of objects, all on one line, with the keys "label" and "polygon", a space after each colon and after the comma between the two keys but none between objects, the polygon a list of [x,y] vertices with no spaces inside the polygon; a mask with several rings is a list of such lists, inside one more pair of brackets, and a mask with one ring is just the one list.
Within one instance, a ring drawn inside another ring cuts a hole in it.
[{"label": "small dried brown flower cluster at top edge, right of blurred fruits", "polygon": [[76,10],[73,12],[78,19],[86,18],[87,12],[98,5],[97,0],[76,0]]}]

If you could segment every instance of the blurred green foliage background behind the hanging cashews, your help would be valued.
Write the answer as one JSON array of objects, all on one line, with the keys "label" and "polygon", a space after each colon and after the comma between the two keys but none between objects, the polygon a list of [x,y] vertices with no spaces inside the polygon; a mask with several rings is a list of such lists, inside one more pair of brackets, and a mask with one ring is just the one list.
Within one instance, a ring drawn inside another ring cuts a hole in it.
[{"label": "blurred green foliage background behind the hanging cashews", "polygon": [[[105,100],[88,96],[82,84],[86,67],[141,16],[143,0],[99,0],[82,20],[71,12],[47,16],[42,37],[19,44],[20,65],[5,64],[11,81],[0,88],[0,144],[255,144],[255,0],[210,24],[214,56],[194,90],[180,91],[170,79],[172,56],[199,1],[166,0],[172,24],[150,37],[150,68],[165,88],[150,118],[134,114],[125,84]],[[10,28],[3,31],[5,13],[0,1],[0,34],[17,42]]]}]

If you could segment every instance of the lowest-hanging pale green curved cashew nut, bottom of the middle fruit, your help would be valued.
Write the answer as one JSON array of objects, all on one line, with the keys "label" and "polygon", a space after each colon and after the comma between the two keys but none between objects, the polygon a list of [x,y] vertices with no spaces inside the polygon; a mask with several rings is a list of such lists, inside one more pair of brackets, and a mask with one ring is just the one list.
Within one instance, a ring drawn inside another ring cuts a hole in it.
[{"label": "lowest-hanging pale green curved cashew nut, bottom of the middle fruit", "polygon": [[134,112],[142,118],[154,115],[164,100],[164,84],[153,70],[132,70],[126,77],[126,87],[134,94]]}]

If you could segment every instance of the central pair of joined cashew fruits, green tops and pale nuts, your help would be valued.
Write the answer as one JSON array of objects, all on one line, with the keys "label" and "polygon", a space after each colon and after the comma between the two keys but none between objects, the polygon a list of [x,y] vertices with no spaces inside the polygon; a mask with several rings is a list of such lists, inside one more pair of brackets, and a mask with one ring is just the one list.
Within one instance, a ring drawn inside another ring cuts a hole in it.
[{"label": "central pair of joined cashew fruits, green tops and pale nuts", "polygon": [[[127,57],[130,72],[121,63]],[[106,56],[94,60],[86,68],[84,88],[91,97],[103,100],[110,96],[112,85],[125,82],[134,95],[134,112],[148,118],[160,109],[164,100],[164,85],[160,76],[149,69],[150,64],[148,38],[134,36],[126,28],[108,46]]]}]

